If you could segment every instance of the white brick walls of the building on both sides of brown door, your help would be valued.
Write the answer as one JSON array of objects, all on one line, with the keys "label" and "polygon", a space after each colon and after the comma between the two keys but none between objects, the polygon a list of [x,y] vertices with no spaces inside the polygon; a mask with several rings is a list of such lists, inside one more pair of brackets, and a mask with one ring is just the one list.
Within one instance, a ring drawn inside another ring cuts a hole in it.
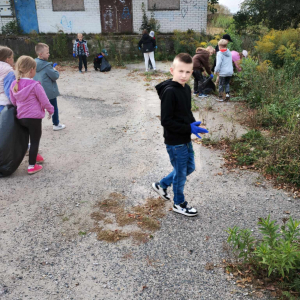
[{"label": "white brick walls of the building on both sides of brown door", "polygon": [[[52,0],[36,0],[40,32],[50,33],[59,30],[65,33],[101,33],[99,0],[84,0],[85,11],[53,11]],[[142,3],[148,11],[147,0],[132,0],[133,31],[140,33],[142,24]],[[156,11],[155,18],[160,22],[161,32],[175,29],[186,31],[206,31],[207,0],[180,0],[180,10]]]}]

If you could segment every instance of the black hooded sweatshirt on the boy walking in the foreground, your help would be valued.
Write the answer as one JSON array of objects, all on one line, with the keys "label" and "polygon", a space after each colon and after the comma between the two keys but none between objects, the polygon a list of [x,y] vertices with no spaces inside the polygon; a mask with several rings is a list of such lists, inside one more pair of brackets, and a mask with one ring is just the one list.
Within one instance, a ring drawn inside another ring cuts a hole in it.
[{"label": "black hooded sweatshirt on the boy walking in the foreground", "polygon": [[191,141],[191,126],[196,122],[191,111],[191,88],[172,79],[156,87],[161,100],[161,125],[164,127],[165,144],[181,145]]}]

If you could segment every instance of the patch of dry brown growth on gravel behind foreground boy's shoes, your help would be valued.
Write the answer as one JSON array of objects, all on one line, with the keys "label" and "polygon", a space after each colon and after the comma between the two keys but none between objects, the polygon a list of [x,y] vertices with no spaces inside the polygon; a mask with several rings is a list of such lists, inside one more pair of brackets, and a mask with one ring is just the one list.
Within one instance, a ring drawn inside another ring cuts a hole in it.
[{"label": "patch of dry brown growth on gravel behind foreground boy's shoes", "polygon": [[[91,232],[97,234],[99,241],[115,243],[132,238],[137,243],[146,243],[153,238],[152,233],[160,229],[159,219],[165,216],[164,200],[148,198],[144,205],[128,209],[125,208],[125,199],[122,194],[111,193],[108,199],[95,204],[94,208],[97,211],[91,214],[91,218],[95,221]],[[110,227],[114,225],[118,229],[109,229],[108,225]],[[134,227],[137,229],[132,229]]]}]

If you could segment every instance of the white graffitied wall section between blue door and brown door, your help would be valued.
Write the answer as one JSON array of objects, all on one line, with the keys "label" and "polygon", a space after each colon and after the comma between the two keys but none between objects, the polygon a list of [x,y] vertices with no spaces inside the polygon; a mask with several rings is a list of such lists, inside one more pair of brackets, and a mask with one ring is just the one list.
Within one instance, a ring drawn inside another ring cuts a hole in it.
[{"label": "white graffitied wall section between blue door and brown door", "polygon": [[52,0],[36,0],[40,32],[101,33],[99,0],[84,0],[84,11],[53,11]]}]

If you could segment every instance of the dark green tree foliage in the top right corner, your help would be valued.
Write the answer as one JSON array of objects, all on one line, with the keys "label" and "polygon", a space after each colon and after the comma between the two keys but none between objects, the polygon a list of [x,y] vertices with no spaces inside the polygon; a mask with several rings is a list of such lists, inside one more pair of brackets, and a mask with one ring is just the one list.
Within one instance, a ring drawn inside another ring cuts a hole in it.
[{"label": "dark green tree foliage in the top right corner", "polygon": [[260,23],[277,30],[297,28],[300,24],[300,1],[245,0],[233,19],[239,30]]}]

